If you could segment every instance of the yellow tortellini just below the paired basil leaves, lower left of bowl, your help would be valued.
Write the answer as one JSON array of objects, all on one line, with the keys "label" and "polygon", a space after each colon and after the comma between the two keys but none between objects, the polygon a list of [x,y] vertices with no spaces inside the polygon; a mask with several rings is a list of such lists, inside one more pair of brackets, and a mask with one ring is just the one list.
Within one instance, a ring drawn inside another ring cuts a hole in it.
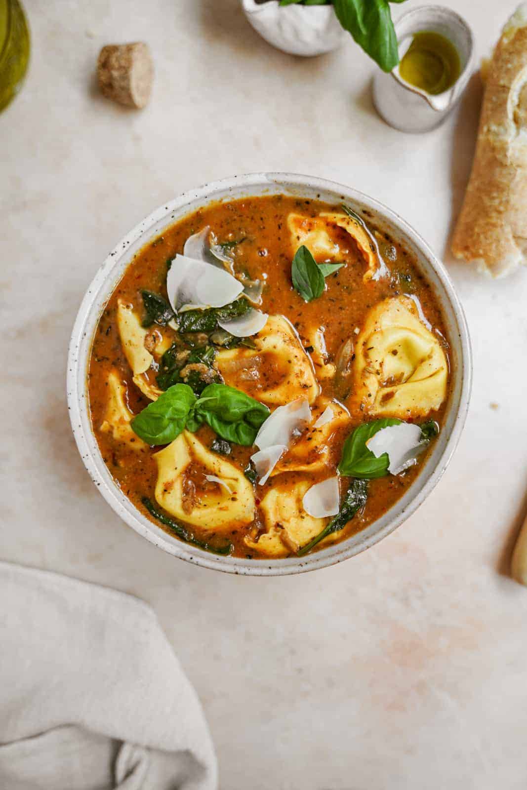
[{"label": "yellow tortellini just below the paired basil leaves, lower left of bowl", "polygon": [[[183,431],[153,457],[157,464],[156,501],[180,521],[216,531],[238,529],[254,520],[252,484],[240,469],[201,444],[190,431]],[[200,473],[203,470],[202,487],[186,476],[192,464],[198,465]],[[224,485],[207,483],[205,474],[219,477]]]}]

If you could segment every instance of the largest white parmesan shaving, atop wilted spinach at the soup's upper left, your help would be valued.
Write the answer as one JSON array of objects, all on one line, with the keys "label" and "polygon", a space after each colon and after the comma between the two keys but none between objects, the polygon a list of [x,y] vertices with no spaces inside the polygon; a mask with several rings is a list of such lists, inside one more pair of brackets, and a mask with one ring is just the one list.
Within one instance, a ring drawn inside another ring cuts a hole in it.
[{"label": "largest white parmesan shaving, atop wilted spinach at the soup's upper left", "polygon": [[183,306],[224,307],[243,292],[243,285],[224,269],[176,255],[167,275],[168,300],[176,312]]}]

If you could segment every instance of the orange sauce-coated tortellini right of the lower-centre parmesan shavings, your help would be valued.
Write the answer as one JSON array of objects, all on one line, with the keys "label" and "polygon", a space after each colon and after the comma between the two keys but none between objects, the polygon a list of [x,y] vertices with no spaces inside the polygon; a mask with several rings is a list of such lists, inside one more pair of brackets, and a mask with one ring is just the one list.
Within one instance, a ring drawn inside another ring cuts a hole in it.
[{"label": "orange sauce-coated tortellini right of the lower-centre parmesan shavings", "polygon": [[[328,406],[333,412],[333,419],[315,427],[318,417]],[[321,472],[328,465],[335,432],[348,422],[348,412],[341,404],[321,398],[317,408],[313,409],[311,425],[280,458],[271,472],[271,477],[280,475],[281,472]]]}]

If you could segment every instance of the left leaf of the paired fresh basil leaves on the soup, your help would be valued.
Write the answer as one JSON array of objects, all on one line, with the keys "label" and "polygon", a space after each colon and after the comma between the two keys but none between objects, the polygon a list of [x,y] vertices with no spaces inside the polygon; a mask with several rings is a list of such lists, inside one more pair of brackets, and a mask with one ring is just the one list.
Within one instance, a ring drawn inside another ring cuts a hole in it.
[{"label": "left leaf of the paired fresh basil leaves on the soup", "polygon": [[195,403],[190,386],[176,384],[144,408],[130,425],[149,445],[169,444],[184,430]]}]

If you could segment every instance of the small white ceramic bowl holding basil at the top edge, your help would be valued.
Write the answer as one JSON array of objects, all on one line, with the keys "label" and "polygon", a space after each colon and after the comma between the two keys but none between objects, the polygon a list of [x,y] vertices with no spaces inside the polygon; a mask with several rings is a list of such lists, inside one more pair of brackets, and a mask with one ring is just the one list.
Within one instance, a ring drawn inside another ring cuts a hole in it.
[{"label": "small white ceramic bowl holding basil at the top edge", "polygon": [[348,35],[333,6],[280,6],[278,0],[242,0],[242,6],[254,30],[288,55],[322,55],[340,47]]}]

